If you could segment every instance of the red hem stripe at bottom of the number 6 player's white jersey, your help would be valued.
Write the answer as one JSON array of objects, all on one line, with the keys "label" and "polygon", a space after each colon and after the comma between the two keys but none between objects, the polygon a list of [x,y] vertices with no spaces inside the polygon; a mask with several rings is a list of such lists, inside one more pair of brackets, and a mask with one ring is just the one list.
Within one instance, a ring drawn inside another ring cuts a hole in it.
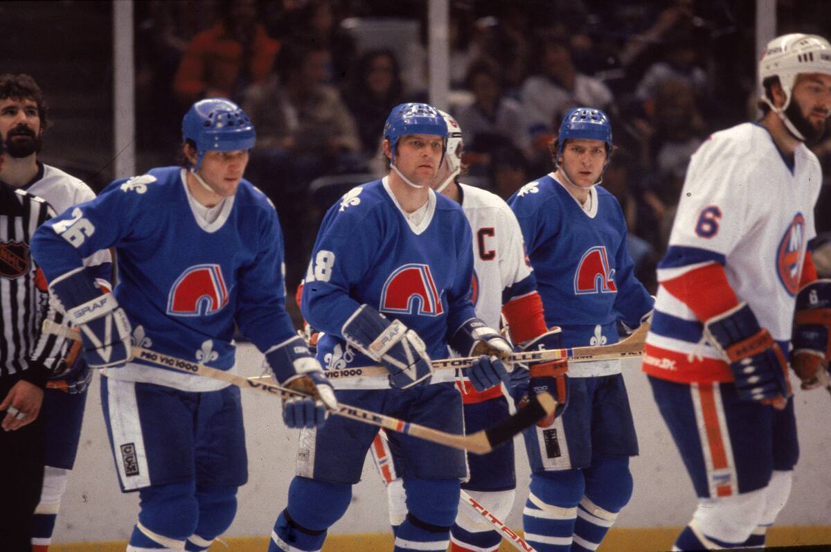
[{"label": "red hem stripe at bottom of the number 6 player's white jersey", "polygon": [[733,381],[727,362],[715,358],[691,360],[686,352],[670,351],[650,343],[644,347],[642,370],[650,376],[678,383]]}]

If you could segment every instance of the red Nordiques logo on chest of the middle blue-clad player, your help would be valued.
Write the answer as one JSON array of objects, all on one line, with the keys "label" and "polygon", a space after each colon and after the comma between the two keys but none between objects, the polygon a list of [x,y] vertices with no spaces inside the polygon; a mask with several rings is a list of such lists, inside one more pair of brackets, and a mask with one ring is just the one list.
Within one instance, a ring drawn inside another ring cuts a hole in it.
[{"label": "red Nordiques logo on chest of the middle blue-clad player", "polygon": [[445,313],[441,295],[435,288],[430,267],[426,264],[405,264],[386,278],[381,290],[382,313],[423,314],[439,316]]}]

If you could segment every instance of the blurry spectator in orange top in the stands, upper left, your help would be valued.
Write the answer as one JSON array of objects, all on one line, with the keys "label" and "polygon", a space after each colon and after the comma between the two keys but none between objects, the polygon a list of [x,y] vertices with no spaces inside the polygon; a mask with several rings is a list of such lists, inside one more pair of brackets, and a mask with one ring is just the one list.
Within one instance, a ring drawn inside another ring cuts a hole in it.
[{"label": "blurry spectator in orange top in the stands, upper left", "polygon": [[199,32],[188,46],[174,92],[183,104],[200,98],[227,97],[240,101],[248,85],[271,72],[280,42],[269,38],[258,22],[256,0],[225,0],[214,27]]}]

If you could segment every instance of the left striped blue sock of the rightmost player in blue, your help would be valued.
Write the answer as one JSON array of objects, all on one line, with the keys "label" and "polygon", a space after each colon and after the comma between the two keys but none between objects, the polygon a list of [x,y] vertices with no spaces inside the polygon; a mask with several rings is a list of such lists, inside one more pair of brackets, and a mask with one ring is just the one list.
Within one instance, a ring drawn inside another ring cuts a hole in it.
[{"label": "left striped blue sock of the rightmost player in blue", "polygon": [[523,510],[525,540],[538,552],[571,550],[577,505],[583,498],[580,470],[552,471],[531,476]]}]

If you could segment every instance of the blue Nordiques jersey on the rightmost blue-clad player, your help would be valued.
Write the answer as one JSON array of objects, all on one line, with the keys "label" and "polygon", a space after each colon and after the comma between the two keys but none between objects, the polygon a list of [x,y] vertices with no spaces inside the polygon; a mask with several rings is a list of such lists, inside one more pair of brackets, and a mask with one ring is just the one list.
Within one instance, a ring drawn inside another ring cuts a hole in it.
[{"label": "blue Nordiques jersey on the rightmost blue-clad player", "polygon": [[620,205],[600,186],[590,193],[587,213],[549,174],[508,202],[534,267],[545,323],[563,328],[564,347],[617,343],[618,318],[637,328],[652,309],[633,274]]}]

